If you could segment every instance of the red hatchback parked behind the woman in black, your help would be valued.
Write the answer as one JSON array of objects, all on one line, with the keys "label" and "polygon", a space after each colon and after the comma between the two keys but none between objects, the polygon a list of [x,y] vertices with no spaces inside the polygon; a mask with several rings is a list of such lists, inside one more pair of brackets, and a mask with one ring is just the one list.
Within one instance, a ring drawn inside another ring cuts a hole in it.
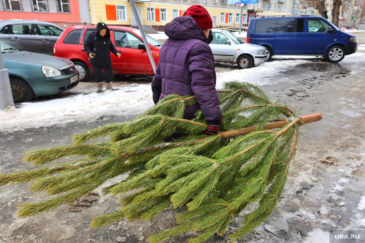
[{"label": "red hatchback parked behind the woman in black", "polygon": [[[62,32],[54,45],[55,56],[71,60],[79,72],[81,82],[86,82],[94,72],[84,51],[84,38],[95,31],[96,26],[70,26]],[[108,26],[111,41],[122,54],[120,58],[111,53],[114,74],[154,75],[145,44],[138,29],[125,26]],[[153,59],[157,66],[162,44],[146,35]]]}]

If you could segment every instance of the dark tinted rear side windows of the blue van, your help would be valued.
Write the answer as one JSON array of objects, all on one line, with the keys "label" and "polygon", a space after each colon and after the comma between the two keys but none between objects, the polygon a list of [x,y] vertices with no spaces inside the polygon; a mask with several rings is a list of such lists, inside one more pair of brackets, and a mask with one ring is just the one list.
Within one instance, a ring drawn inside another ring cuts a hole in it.
[{"label": "dark tinted rear side windows of the blue van", "polygon": [[297,33],[303,30],[304,19],[296,18],[258,20],[255,27],[256,33]]}]

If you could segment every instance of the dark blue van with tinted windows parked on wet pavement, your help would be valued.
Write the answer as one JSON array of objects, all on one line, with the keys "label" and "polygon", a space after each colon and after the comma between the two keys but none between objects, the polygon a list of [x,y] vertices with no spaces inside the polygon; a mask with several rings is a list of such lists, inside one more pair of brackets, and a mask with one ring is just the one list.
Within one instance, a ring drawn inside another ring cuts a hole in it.
[{"label": "dark blue van with tinted windows parked on wet pavement", "polygon": [[357,48],[354,35],[323,17],[308,15],[251,19],[246,42],[266,47],[268,60],[272,55],[316,55],[339,62]]}]

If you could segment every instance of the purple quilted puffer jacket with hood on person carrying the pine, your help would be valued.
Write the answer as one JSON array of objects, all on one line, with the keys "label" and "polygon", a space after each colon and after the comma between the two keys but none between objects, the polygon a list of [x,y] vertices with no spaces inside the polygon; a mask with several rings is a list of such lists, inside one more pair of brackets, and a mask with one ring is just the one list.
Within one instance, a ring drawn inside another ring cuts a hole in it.
[{"label": "purple quilted puffer jacket with hood on person carrying the pine", "polygon": [[208,38],[191,16],[176,17],[165,26],[169,38],[160,51],[152,79],[153,101],[169,94],[196,95],[198,104],[186,107],[184,118],[192,119],[201,109],[208,121],[222,119],[215,89],[214,57]]}]

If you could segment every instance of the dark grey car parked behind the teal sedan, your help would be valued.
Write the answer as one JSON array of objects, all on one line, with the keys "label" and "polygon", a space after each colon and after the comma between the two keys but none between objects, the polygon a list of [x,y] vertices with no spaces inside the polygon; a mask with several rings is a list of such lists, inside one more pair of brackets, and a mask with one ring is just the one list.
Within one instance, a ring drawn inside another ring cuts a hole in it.
[{"label": "dark grey car parked behind the teal sedan", "polygon": [[0,40],[20,48],[47,55],[53,54],[53,46],[63,28],[37,20],[0,20]]}]

